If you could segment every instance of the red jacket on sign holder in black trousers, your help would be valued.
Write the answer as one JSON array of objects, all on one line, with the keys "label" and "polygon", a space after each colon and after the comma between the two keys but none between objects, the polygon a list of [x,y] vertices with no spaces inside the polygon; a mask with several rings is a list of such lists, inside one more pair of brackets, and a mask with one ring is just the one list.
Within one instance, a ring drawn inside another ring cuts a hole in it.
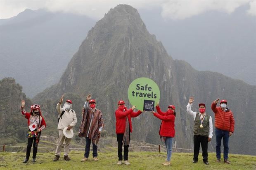
[{"label": "red jacket on sign holder in black trousers", "polygon": [[125,108],[125,111],[118,108],[116,110],[116,134],[124,133],[126,129],[126,116],[128,117],[129,125],[130,125],[130,132],[133,132],[133,125],[131,117],[137,117],[142,112],[139,110],[137,112],[133,112],[133,109]]}]

